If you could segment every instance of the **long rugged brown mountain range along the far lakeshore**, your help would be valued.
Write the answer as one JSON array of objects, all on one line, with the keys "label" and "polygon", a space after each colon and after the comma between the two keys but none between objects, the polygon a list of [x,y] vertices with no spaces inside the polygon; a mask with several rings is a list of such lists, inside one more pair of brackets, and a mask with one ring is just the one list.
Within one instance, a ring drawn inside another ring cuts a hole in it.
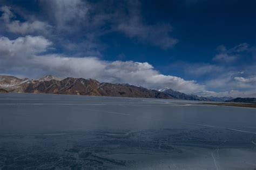
[{"label": "long rugged brown mountain range along the far lakeshore", "polygon": [[214,99],[213,97],[199,97],[194,94],[185,94],[167,88],[157,91],[130,84],[100,83],[95,79],[71,77],[60,79],[51,75],[38,79],[20,79],[14,76],[0,76],[0,88],[8,90],[9,92],[25,93],[224,101],[224,99],[217,97],[214,97]]}]

